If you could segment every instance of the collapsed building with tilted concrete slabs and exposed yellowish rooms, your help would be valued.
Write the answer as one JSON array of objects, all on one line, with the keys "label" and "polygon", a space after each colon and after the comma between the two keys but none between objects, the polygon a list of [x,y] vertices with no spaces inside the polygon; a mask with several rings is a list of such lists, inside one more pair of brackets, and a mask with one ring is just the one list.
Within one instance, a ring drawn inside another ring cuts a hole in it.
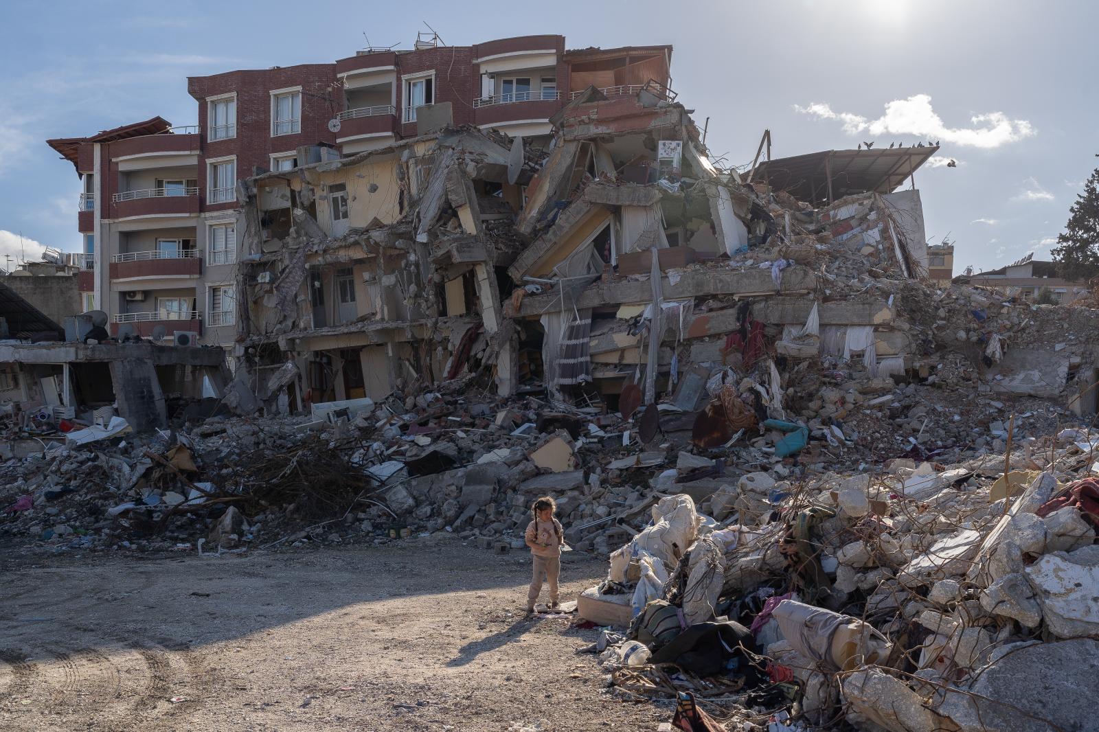
[{"label": "collapsed building with tilted concrete slabs and exposed yellowish rooms", "polygon": [[631,386],[651,402],[688,375],[697,396],[736,351],[751,368],[764,331],[790,359],[913,367],[895,298],[845,290],[925,277],[919,191],[896,189],[937,148],[722,171],[657,81],[589,88],[551,121],[532,144],[441,117],[429,134],[246,181],[253,389],[301,411],[479,369],[501,396],[614,409]]}]

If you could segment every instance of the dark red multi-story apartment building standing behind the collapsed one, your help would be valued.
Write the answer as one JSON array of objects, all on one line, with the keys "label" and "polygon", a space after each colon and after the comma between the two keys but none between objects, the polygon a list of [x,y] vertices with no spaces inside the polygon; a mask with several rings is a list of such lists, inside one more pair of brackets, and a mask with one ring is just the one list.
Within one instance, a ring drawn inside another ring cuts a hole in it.
[{"label": "dark red multi-story apartment building standing behind the collapsed one", "polygon": [[238,181],[414,137],[428,109],[432,129],[473,124],[536,144],[589,86],[613,97],[666,85],[670,58],[670,46],[565,51],[564,36],[534,35],[190,77],[196,126],[154,117],[47,141],[82,181],[82,306],[106,311],[113,333],[193,332],[229,346],[245,226]]}]

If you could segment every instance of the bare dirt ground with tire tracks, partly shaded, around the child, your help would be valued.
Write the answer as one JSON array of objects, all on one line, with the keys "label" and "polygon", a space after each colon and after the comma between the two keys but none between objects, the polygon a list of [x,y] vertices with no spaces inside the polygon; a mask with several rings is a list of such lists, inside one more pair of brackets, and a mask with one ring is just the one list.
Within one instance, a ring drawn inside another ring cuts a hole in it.
[{"label": "bare dirt ground with tire tracks, partly shaded, around the child", "polygon": [[[10,562],[10,559],[9,559]],[[563,597],[606,573],[571,553]],[[454,537],[0,567],[0,730],[655,730],[596,632],[524,620],[530,558]]]}]

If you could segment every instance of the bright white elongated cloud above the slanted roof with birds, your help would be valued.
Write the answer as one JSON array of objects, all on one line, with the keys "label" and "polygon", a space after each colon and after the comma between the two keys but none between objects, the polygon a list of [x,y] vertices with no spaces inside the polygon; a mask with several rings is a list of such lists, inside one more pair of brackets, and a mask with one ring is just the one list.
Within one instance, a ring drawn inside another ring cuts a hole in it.
[{"label": "bright white elongated cloud above the slanted roof with birds", "polygon": [[970,127],[950,127],[931,107],[930,95],[913,95],[908,99],[895,99],[886,102],[885,114],[870,120],[852,112],[835,112],[824,102],[814,102],[806,107],[795,104],[793,109],[802,114],[810,114],[822,120],[837,120],[843,123],[843,131],[850,135],[869,133],[872,136],[887,136],[885,144],[895,142],[889,136],[914,135],[918,140],[901,140],[903,144],[914,144],[922,140],[935,140],[969,147],[995,148],[1009,143],[1025,140],[1035,134],[1033,125],[1026,120],[1009,119],[1003,112],[986,112],[969,118]]}]

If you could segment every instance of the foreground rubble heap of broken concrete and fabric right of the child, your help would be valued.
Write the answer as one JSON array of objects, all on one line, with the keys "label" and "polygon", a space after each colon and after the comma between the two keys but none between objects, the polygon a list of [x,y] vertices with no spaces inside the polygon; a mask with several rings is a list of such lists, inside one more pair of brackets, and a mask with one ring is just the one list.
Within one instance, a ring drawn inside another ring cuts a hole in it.
[{"label": "foreground rubble heap of broken concrete and fabric right of the child", "polygon": [[629,626],[600,641],[618,694],[689,691],[723,729],[1083,730],[1097,446],[1068,429],[950,466],[753,473],[697,510],[668,496],[580,613]]}]

